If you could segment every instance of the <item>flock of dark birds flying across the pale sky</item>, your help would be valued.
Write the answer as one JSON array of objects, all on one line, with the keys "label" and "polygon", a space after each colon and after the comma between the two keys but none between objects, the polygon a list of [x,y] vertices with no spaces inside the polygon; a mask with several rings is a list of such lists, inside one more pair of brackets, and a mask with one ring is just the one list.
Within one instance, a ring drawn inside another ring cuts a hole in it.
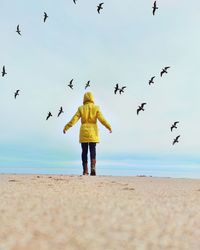
[{"label": "flock of dark birds flying across the pale sky", "polygon": [[[76,2],[77,2],[77,0],[73,0],[73,2],[74,2],[74,4],[76,4]],[[100,11],[103,9],[103,4],[104,3],[99,3],[98,5],[97,5],[97,12],[100,14]],[[157,7],[157,3],[156,3],[156,1],[154,1],[154,4],[153,4],[153,15],[155,15],[155,12],[156,12],[156,10],[158,9],[158,7]],[[46,20],[47,20],[47,18],[48,18],[49,16],[47,15],[47,13],[46,12],[44,12],[44,17],[43,17],[43,22],[45,23],[46,22]],[[20,30],[20,25],[18,24],[17,25],[17,29],[16,29],[16,32],[18,33],[18,35],[22,35],[21,34],[21,30]],[[161,70],[161,72],[160,72],[160,77],[162,77],[163,76],[163,74],[167,74],[168,73],[168,69],[170,68],[170,66],[166,66],[166,67],[164,67],[162,70]],[[5,67],[5,65],[3,65],[3,68],[2,68],[2,77],[5,77],[6,75],[7,75],[7,72],[6,72],[6,67]],[[156,76],[152,76],[151,77],[151,79],[149,80],[149,85],[151,85],[151,84],[154,84],[154,79],[155,79],[155,77]],[[74,85],[73,85],[73,80],[74,79],[71,79],[70,80],[70,82],[69,82],[69,84],[68,84],[68,87],[69,88],[71,88],[71,89],[73,89],[73,87],[74,87]],[[85,84],[85,89],[87,89],[88,87],[90,87],[90,80],[89,81],[87,81],[87,83]],[[116,86],[115,86],[115,88],[114,88],[114,94],[116,95],[117,94],[117,92],[119,92],[119,94],[121,95],[122,93],[124,93],[124,90],[126,89],[126,87],[127,86],[122,86],[121,88],[119,87],[119,84],[117,83],[116,84]],[[15,92],[14,92],[14,98],[16,99],[17,98],[17,96],[19,96],[19,92],[20,92],[20,90],[19,89],[17,89]],[[145,109],[144,109],[144,106],[146,105],[147,103],[141,103],[139,106],[138,106],[138,108],[137,108],[137,111],[136,111],[136,113],[137,113],[137,115],[139,115],[139,113],[140,113],[140,111],[144,111]],[[59,110],[59,112],[58,112],[58,115],[57,115],[57,117],[59,117],[62,113],[64,113],[64,111],[63,111],[63,107],[61,106],[60,107],[60,110]],[[52,113],[51,112],[48,112],[48,114],[47,114],[47,117],[46,117],[46,120],[48,120],[50,117],[52,117],[53,115],[52,115]],[[177,124],[179,123],[179,121],[176,121],[176,122],[174,122],[173,124],[172,124],[172,126],[171,126],[171,132],[173,131],[173,129],[175,128],[175,129],[177,129]],[[178,135],[178,136],[176,136],[176,138],[173,140],[173,145],[175,144],[175,143],[178,143],[179,141],[178,141],[178,139],[180,138],[180,135]]]}]

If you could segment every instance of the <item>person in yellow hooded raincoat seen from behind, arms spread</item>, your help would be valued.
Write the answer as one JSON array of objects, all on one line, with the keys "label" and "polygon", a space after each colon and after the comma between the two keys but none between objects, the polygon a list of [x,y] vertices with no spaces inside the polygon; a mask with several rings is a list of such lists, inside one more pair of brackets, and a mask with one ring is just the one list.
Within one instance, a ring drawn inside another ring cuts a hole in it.
[{"label": "person in yellow hooded raincoat seen from behind, arms spread", "polygon": [[76,114],[68,122],[63,133],[72,127],[81,118],[81,127],[79,142],[82,147],[82,165],[83,175],[88,175],[88,147],[90,149],[91,172],[90,175],[96,175],[96,143],[99,142],[99,131],[97,120],[99,120],[112,133],[110,124],[103,117],[99,106],[94,104],[94,97],[91,92],[84,94],[83,105],[80,106]]}]

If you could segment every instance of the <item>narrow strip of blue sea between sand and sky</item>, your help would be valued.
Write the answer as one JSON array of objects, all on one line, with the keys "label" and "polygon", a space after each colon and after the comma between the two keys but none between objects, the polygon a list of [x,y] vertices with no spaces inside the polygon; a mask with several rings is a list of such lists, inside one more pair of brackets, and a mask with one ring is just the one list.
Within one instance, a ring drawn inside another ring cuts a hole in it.
[{"label": "narrow strip of blue sea between sand and sky", "polygon": [[[82,173],[81,164],[75,166],[59,167],[0,167],[0,173],[16,174],[67,174],[80,175]],[[106,166],[97,165],[98,175],[112,176],[137,176],[146,175],[153,177],[176,177],[176,178],[194,178],[200,179],[200,167],[194,166]]]}]

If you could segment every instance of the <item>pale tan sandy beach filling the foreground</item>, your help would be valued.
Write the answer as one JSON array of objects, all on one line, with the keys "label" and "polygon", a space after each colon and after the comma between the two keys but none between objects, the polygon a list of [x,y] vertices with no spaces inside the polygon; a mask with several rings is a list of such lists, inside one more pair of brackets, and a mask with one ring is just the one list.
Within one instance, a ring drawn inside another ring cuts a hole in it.
[{"label": "pale tan sandy beach filling the foreground", "polygon": [[0,250],[200,249],[200,180],[0,175]]}]

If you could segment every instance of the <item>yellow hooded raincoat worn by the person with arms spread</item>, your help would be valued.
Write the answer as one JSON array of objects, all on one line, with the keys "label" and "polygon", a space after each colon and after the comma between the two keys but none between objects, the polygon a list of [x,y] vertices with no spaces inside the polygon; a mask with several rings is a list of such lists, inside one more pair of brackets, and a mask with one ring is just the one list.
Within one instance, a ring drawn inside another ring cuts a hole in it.
[{"label": "yellow hooded raincoat worn by the person with arms spread", "polygon": [[97,119],[108,129],[112,130],[110,124],[103,117],[99,106],[94,105],[94,97],[91,92],[87,92],[83,98],[83,105],[80,106],[76,114],[64,127],[66,132],[81,118],[79,142],[99,142],[99,130]]}]

